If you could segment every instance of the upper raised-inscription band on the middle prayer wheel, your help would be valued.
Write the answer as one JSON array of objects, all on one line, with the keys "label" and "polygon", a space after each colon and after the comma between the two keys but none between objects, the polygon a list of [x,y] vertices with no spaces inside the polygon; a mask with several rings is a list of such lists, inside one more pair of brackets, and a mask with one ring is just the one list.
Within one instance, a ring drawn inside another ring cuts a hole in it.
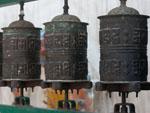
[{"label": "upper raised-inscription band on the middle prayer wheel", "polygon": [[48,49],[85,49],[87,48],[87,33],[48,33],[46,35]]}]

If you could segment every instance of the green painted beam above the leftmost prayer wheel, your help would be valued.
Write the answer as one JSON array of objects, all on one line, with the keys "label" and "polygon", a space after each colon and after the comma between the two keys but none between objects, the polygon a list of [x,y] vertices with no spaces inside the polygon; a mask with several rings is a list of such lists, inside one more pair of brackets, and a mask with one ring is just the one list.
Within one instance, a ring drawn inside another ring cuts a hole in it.
[{"label": "green painted beam above the leftmost prayer wheel", "polygon": [[[8,5],[14,5],[19,3],[21,0],[0,0],[0,7],[8,6]],[[36,0],[23,0],[24,2],[32,2]]]}]

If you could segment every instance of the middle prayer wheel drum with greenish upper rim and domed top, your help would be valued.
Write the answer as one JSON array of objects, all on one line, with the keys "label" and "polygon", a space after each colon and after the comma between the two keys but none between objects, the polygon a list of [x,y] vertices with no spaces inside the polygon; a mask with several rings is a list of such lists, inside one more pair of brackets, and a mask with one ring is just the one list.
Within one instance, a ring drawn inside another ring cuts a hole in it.
[{"label": "middle prayer wheel drum with greenish upper rim and domed top", "polygon": [[45,23],[47,63],[46,80],[87,80],[87,23],[68,14],[65,0],[64,14]]}]

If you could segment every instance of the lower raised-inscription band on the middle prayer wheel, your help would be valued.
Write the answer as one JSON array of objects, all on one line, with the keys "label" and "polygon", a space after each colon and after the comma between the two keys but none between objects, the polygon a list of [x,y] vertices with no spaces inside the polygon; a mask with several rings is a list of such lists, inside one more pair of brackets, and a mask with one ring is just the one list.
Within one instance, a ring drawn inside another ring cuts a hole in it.
[{"label": "lower raised-inscription band on the middle prayer wheel", "polygon": [[87,62],[51,62],[45,65],[47,80],[86,80]]}]

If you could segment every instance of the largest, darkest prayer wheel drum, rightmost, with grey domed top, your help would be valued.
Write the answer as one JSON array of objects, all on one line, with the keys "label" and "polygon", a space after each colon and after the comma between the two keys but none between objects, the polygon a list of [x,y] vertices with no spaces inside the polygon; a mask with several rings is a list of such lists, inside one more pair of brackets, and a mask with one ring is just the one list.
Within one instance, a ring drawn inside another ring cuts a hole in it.
[{"label": "largest, darkest prayer wheel drum, rightmost, with grey domed top", "polygon": [[101,81],[146,81],[148,16],[125,5],[101,16]]}]

